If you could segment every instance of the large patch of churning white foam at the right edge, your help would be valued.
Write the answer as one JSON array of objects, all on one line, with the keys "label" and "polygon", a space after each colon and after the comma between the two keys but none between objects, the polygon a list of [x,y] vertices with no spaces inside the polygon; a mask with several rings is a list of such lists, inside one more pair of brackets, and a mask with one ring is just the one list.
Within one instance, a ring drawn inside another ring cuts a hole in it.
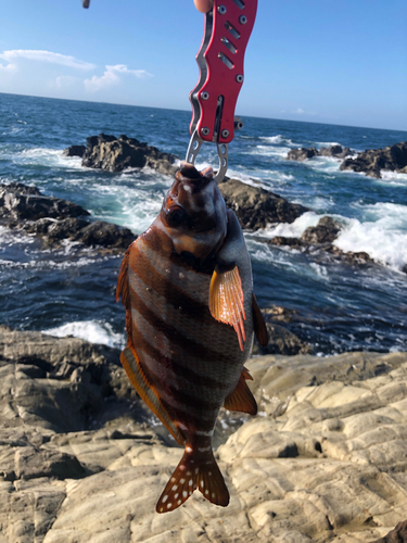
[{"label": "large patch of churning white foam at the right edge", "polygon": [[359,207],[365,220],[346,219],[335,245],[343,251],[365,251],[377,262],[402,269],[407,265],[407,206],[378,202]]}]

